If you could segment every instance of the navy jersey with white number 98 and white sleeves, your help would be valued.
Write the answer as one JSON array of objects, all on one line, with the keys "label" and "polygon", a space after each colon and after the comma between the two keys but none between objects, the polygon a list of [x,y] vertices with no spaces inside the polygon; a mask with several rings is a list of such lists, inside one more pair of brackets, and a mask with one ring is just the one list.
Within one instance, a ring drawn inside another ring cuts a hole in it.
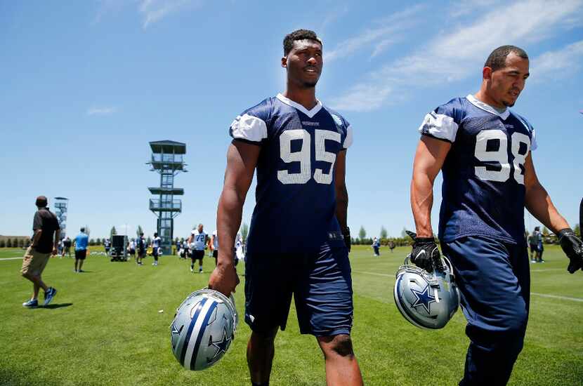
[{"label": "navy jersey with white number 98 and white sleeves", "polygon": [[468,95],[427,114],[419,131],[452,143],[442,168],[439,238],[524,243],[524,164],[537,147],[528,121]]}]

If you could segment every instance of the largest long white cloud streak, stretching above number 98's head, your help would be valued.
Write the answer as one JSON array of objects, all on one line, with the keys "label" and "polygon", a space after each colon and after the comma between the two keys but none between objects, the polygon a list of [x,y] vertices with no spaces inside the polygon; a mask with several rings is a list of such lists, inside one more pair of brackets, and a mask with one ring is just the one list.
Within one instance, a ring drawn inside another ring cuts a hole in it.
[{"label": "largest long white cloud streak, stretching above number 98's head", "polygon": [[[470,25],[448,34],[438,34],[417,53],[393,60],[369,74],[365,81],[332,100],[332,106],[367,111],[386,104],[395,90],[441,84],[478,74],[493,48],[546,39],[580,11],[582,4],[582,0],[528,0],[505,6],[504,12],[497,9],[486,13]],[[367,98],[363,90],[374,97]],[[359,98],[363,102],[359,102]]]}]

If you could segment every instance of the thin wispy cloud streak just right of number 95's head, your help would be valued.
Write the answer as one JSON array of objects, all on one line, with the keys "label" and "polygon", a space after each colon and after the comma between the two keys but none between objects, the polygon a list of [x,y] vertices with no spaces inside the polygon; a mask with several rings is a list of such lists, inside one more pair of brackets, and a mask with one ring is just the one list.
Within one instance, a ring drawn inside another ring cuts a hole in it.
[{"label": "thin wispy cloud streak just right of number 95's head", "polygon": [[406,29],[415,25],[416,20],[413,16],[424,8],[423,4],[419,4],[378,20],[375,23],[379,25],[378,27],[365,29],[360,34],[336,44],[336,47],[331,51],[325,51],[325,62],[329,63],[342,56],[353,55],[353,53],[371,45],[374,45],[372,57],[379,55],[391,43],[398,40],[398,37],[403,36]]}]

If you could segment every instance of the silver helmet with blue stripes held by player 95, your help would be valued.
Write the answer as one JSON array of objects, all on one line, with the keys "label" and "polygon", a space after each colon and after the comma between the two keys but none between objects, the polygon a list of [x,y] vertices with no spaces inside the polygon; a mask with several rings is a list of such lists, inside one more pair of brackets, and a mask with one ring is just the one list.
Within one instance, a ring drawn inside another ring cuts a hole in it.
[{"label": "silver helmet with blue stripes held by player 95", "polygon": [[188,370],[216,364],[235,338],[235,300],[208,288],[188,295],[170,325],[172,352]]}]

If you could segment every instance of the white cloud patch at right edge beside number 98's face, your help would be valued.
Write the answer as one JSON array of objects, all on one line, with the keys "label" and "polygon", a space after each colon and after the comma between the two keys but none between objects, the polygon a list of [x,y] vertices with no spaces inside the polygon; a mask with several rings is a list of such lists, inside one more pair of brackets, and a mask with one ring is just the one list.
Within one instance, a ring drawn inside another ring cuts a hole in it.
[{"label": "white cloud patch at right edge beside number 98's face", "polygon": [[569,44],[556,51],[549,51],[532,60],[530,75],[532,79],[544,79],[570,73],[581,65],[583,57],[583,40]]}]

